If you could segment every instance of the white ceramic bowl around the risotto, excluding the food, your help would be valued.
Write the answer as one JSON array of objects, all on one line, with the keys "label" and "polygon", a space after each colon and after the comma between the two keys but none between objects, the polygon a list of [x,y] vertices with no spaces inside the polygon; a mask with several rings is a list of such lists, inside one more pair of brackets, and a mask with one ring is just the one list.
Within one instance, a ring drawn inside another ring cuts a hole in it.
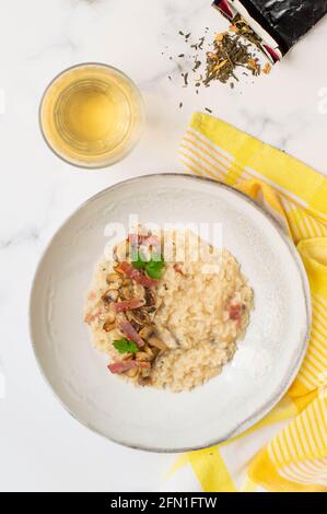
[{"label": "white ceramic bowl around the risotto, excluding the food", "polygon": [[[218,222],[223,245],[255,293],[246,337],[221,375],[187,393],[133,387],[106,369],[90,343],[83,303],[109,222]],[[182,452],[225,441],[283,396],[304,357],[311,326],[302,262],[278,223],[244,195],[188,175],[149,175],[81,206],[48,245],[34,279],[31,335],[40,369],[80,422],[117,443]]]}]

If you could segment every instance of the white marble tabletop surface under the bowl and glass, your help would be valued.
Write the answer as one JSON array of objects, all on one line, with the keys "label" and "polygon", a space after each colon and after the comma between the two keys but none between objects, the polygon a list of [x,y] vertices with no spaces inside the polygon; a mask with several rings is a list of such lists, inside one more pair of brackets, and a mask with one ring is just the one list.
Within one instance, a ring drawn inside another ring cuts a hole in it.
[{"label": "white marble tabletop surface under the bowl and glass", "polygon": [[[172,55],[183,51],[179,30],[200,36],[206,26],[225,27],[210,3],[0,0],[0,490],[157,490],[172,462],[120,448],[79,425],[36,367],[27,330],[33,272],[51,234],[79,203],[120,179],[178,170],[180,135],[191,113],[206,106],[327,174],[327,102],[320,100],[319,109],[319,92],[327,93],[327,20],[270,75],[233,91],[215,84],[197,96],[182,87],[178,59],[161,52],[165,46]],[[142,141],[106,171],[62,163],[38,129],[45,86],[81,61],[122,69],[147,104]]]}]

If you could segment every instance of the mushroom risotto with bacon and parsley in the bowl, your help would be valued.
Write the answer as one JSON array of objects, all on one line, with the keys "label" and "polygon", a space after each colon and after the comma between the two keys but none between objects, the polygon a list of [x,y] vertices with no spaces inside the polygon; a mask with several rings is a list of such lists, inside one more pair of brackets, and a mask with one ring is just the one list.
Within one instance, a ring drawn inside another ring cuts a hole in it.
[{"label": "mushroom risotto with bacon and parsley in the bowl", "polygon": [[108,370],[174,392],[221,373],[253,308],[235,257],[177,231],[130,234],[113,256],[96,266],[84,317]]}]

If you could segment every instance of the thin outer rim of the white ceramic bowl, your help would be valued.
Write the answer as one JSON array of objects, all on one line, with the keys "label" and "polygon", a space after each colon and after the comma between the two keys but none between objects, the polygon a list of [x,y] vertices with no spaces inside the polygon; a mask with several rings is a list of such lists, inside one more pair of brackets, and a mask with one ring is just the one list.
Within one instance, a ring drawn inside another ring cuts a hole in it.
[{"label": "thin outer rim of the white ceramic bowl", "polygon": [[[273,396],[269,399],[269,401],[267,401],[265,405],[262,405],[262,407],[260,409],[258,409],[255,413],[253,413],[250,417],[248,417],[245,421],[243,421],[238,427],[236,427],[232,432],[229,432],[226,434],[224,434],[223,436],[219,437],[218,440],[213,440],[213,441],[207,441],[207,442],[203,442],[203,444],[199,445],[199,446],[195,446],[195,447],[178,447],[178,448],[161,448],[161,447],[150,447],[150,446],[145,446],[145,445],[138,445],[138,444],[132,444],[132,443],[129,443],[129,442],[126,442],[126,441],[119,441],[117,439],[113,439],[113,437],[109,437],[108,435],[106,434],[103,434],[100,430],[97,430],[95,427],[92,427],[90,423],[86,423],[85,421],[83,421],[82,419],[80,419],[80,417],[78,417],[74,412],[71,411],[71,409],[61,400],[61,398],[59,397],[59,395],[54,390],[50,382],[48,381],[47,376],[46,376],[46,373],[42,366],[42,363],[38,359],[38,355],[37,355],[37,351],[36,351],[36,347],[34,344],[34,341],[33,341],[33,329],[32,329],[32,299],[33,299],[33,293],[34,293],[34,289],[35,289],[35,284],[36,284],[36,279],[37,279],[37,274],[38,274],[38,271],[40,269],[40,266],[42,266],[42,262],[43,260],[45,259],[46,255],[47,255],[47,252],[48,249],[50,248],[51,244],[52,244],[52,241],[54,238],[56,237],[56,234],[58,232],[60,232],[60,230],[81,210],[83,209],[85,206],[87,206],[89,203],[91,203],[92,201],[96,200],[98,197],[103,196],[103,195],[106,195],[108,191],[114,191],[115,189],[118,189],[127,184],[132,184],[135,182],[139,182],[139,180],[143,180],[143,179],[147,179],[147,178],[155,178],[155,177],[174,177],[174,176],[178,176],[178,178],[184,178],[185,180],[198,180],[199,183],[200,182],[207,182],[207,183],[211,183],[211,184],[214,184],[217,185],[218,187],[220,188],[223,188],[223,189],[226,189],[226,190],[230,190],[232,191],[233,194],[242,197],[245,201],[247,201],[248,203],[250,203],[256,210],[260,211],[269,221],[271,224],[273,224],[273,226],[276,227],[276,230],[278,231],[280,237],[283,240],[283,242],[287,244],[288,248],[289,248],[289,252],[294,260],[294,264],[295,266],[297,267],[297,271],[301,276],[301,279],[302,279],[302,291],[303,291],[303,299],[304,299],[304,303],[305,303],[305,313],[306,313],[306,331],[305,331],[305,335],[304,337],[302,338],[301,341],[299,341],[299,346],[295,347],[296,351],[293,353],[293,360],[292,360],[292,363],[290,364],[290,373],[289,375],[285,377],[285,379],[279,385],[279,387],[277,388],[277,390],[275,392]],[[201,448],[206,448],[206,447],[210,447],[210,446],[214,446],[217,444],[220,444],[226,440],[230,440],[238,434],[241,434],[242,432],[245,432],[247,429],[249,429],[250,427],[253,427],[256,422],[258,422],[260,419],[262,419],[277,404],[278,401],[283,397],[283,395],[285,394],[285,392],[289,389],[289,387],[291,386],[291,384],[293,383],[293,381],[295,379],[296,375],[297,375],[297,372],[300,370],[300,366],[302,364],[302,361],[304,359],[304,355],[305,355],[305,352],[306,352],[306,349],[307,349],[307,344],[308,344],[308,339],[310,339],[310,335],[311,335],[311,319],[312,319],[312,305],[311,305],[311,294],[310,294],[310,287],[308,287],[308,280],[307,280],[307,276],[306,276],[306,272],[305,272],[305,269],[304,269],[304,266],[302,265],[302,261],[300,259],[300,256],[299,256],[299,253],[293,244],[293,242],[290,240],[290,237],[288,236],[288,234],[285,233],[284,229],[278,223],[278,221],[272,217],[272,214],[270,214],[267,210],[265,210],[261,206],[259,206],[258,203],[256,203],[252,198],[249,198],[248,196],[246,196],[245,194],[234,189],[233,187],[226,185],[226,184],[223,184],[217,179],[212,179],[212,178],[209,178],[209,177],[200,177],[200,176],[197,176],[197,175],[190,175],[190,174],[185,174],[185,173],[159,173],[159,174],[147,174],[147,175],[141,175],[141,176],[138,176],[138,177],[132,177],[132,178],[129,178],[129,179],[126,179],[126,180],[121,180],[117,184],[114,184],[113,186],[109,186],[105,189],[103,189],[102,191],[97,192],[96,195],[92,196],[91,198],[89,198],[87,200],[85,200],[84,202],[82,202],[61,224],[60,226],[57,229],[57,231],[55,232],[55,234],[52,235],[52,237],[50,238],[50,241],[48,242],[48,244],[46,245],[45,249],[43,250],[43,254],[39,258],[39,262],[36,267],[36,270],[35,270],[35,273],[34,273],[34,277],[33,277],[33,282],[32,282],[32,288],[31,288],[31,294],[30,294],[30,315],[28,315],[28,326],[30,326],[30,337],[31,337],[31,342],[32,342],[32,348],[33,348],[33,351],[34,351],[34,355],[35,355],[35,359],[36,359],[36,362],[37,362],[37,365],[40,370],[40,373],[45,379],[45,382],[47,383],[47,385],[50,387],[52,394],[55,395],[55,397],[59,400],[59,402],[61,404],[61,406],[77,420],[79,421],[81,424],[83,424],[84,427],[86,427],[87,429],[90,429],[91,431],[93,431],[94,433],[97,433],[100,435],[102,435],[103,437],[107,439],[107,440],[110,440],[112,442],[114,443],[117,443],[117,444],[120,444],[122,446],[126,446],[126,447],[130,447],[130,448],[135,448],[135,449],[141,449],[141,451],[147,451],[147,452],[155,452],[155,453],[180,453],[180,452],[189,452],[189,451],[196,451],[196,449],[201,449]]]}]

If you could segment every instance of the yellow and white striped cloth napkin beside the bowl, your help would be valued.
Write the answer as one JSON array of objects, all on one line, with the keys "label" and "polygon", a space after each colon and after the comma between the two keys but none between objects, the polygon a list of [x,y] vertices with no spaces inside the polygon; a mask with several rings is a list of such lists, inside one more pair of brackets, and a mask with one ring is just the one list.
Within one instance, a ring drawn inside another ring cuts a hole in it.
[{"label": "yellow and white striped cloth napkin beside the bowl", "polygon": [[166,490],[327,491],[327,178],[230,125],[195,114],[180,147],[188,172],[247,194],[285,224],[306,268],[313,326],[280,404],[241,436],[183,454]]}]

